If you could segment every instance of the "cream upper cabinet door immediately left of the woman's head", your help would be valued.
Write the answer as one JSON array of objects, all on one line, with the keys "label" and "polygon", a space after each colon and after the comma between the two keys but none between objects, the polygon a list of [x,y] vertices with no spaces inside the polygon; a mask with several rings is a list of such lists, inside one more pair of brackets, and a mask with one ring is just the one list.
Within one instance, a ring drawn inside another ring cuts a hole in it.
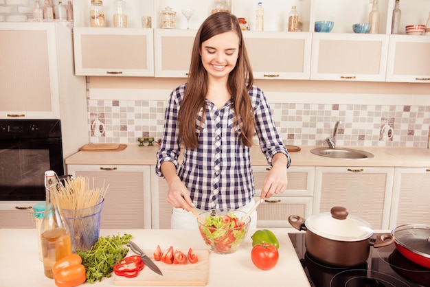
[{"label": "cream upper cabinet door immediately left of the woman's head", "polygon": [[154,30],[155,77],[187,78],[197,30]]}]

